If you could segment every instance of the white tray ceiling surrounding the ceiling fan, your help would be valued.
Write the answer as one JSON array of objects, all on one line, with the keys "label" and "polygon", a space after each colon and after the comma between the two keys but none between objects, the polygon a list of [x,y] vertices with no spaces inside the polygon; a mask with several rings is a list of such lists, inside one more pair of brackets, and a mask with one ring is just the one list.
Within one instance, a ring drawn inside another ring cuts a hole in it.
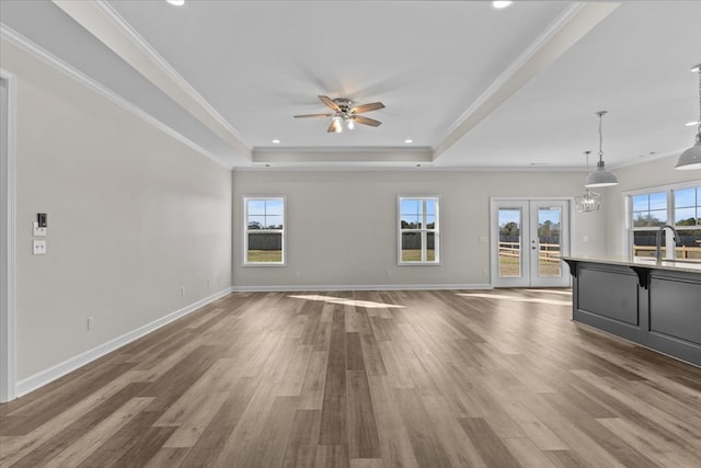
[{"label": "white tray ceiling surrounding the ceiling fan", "polygon": [[[2,0],[0,20],[233,168],[583,168],[601,110],[616,168],[686,149],[699,118],[700,1]],[[382,125],[292,118],[318,94],[382,101]]]}]

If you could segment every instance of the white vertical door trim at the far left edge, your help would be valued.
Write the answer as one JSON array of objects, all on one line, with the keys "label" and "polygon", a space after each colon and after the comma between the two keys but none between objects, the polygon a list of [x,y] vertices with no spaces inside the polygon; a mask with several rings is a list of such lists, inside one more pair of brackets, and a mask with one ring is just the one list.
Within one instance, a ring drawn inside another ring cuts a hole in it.
[{"label": "white vertical door trim at the far left edge", "polygon": [[0,193],[0,216],[5,227],[0,241],[0,402],[16,397],[16,362],[15,362],[15,225],[16,225],[16,79],[14,75],[0,69],[0,79],[8,89],[7,95],[7,138],[5,157],[0,156],[2,181]]}]

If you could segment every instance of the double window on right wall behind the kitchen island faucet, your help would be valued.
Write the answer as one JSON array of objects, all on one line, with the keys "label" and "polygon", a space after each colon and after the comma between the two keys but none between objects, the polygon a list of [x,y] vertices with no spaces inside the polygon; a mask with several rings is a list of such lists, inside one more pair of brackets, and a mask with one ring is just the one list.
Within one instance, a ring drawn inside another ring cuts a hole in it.
[{"label": "double window on right wall behind the kitchen island faucet", "polygon": [[701,261],[701,186],[676,185],[630,196],[630,242],[633,256],[655,256],[656,236],[662,226],[677,230],[677,242],[665,233],[663,258],[675,248],[676,259]]}]

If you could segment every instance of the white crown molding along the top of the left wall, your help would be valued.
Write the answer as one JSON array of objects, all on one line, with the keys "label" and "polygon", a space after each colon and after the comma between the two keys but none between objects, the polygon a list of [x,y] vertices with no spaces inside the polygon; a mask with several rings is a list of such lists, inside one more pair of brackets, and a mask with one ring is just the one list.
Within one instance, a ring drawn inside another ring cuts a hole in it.
[{"label": "white crown molding along the top of the left wall", "polygon": [[93,80],[92,78],[79,71],[78,69],[71,67],[64,60],[56,57],[54,54],[49,53],[48,50],[41,47],[39,45],[33,43],[32,41],[24,37],[23,35],[21,35],[20,33],[18,33],[16,31],[12,30],[11,27],[7,26],[3,23],[0,23],[0,37],[7,41],[8,43],[20,47],[22,50],[33,55],[34,57],[42,60],[44,64],[60,71],[61,73],[77,81],[78,83],[84,85],[91,91],[102,95],[103,98],[106,98],[114,104],[118,105],[119,107],[124,109],[130,114],[137,116],[138,118],[146,122],[147,124],[152,125],[153,127],[163,132],[168,136],[176,139],[177,141],[182,142],[183,145],[187,146],[188,148],[193,149],[199,155],[211,159],[212,161],[215,161],[216,163],[218,163],[219,165],[226,169],[231,169],[231,164],[225,163],[220,158],[215,156],[212,152],[200,147],[189,138],[183,136],[181,133],[176,132],[172,127],[169,127],[163,122],[159,121],[148,112],[143,111],[141,107],[138,107],[131,104],[129,101],[125,100],[119,94],[115,93],[114,91],[104,87],[97,81]]}]

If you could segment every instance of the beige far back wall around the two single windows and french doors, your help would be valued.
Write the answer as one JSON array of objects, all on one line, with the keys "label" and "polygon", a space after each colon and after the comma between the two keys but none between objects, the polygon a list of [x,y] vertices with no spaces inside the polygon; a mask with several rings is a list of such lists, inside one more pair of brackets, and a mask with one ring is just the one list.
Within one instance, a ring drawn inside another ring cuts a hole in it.
[{"label": "beige far back wall around the two single windows and french doors", "polygon": [[[233,173],[233,284],[240,288],[439,286],[490,283],[490,196],[572,197],[583,172]],[[438,266],[397,265],[397,196],[438,194]],[[242,196],[287,196],[287,266],[241,266]],[[606,250],[604,216],[573,214],[573,254]],[[584,237],[588,242],[584,242]]]}]

